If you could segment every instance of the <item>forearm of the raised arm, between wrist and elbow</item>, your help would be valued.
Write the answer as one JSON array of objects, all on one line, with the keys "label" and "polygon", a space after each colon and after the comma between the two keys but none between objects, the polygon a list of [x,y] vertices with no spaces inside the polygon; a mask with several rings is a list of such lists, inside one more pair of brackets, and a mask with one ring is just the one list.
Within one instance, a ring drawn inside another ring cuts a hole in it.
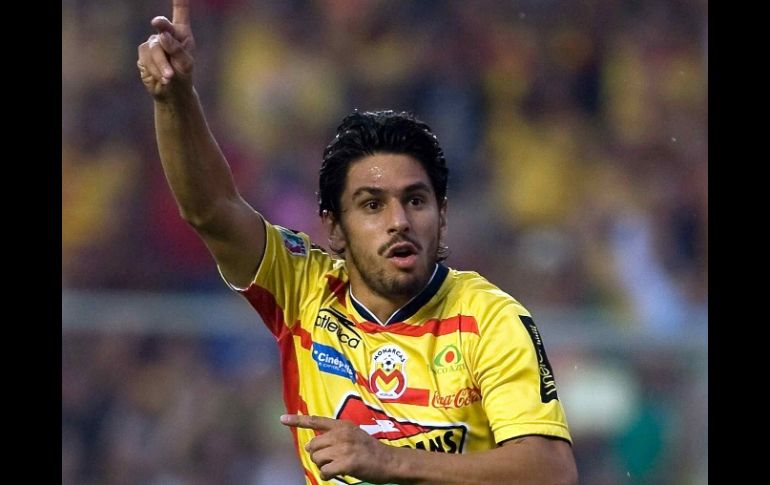
[{"label": "forearm of the raised arm, between wrist and elbow", "polygon": [[166,179],[185,220],[203,225],[218,206],[238,199],[230,166],[194,88],[155,101],[155,133]]}]

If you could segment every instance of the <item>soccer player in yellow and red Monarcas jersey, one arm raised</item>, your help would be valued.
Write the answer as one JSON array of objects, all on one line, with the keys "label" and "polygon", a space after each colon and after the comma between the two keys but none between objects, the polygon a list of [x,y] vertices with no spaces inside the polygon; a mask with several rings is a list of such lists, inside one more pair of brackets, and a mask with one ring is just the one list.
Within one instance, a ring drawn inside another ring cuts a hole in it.
[{"label": "soccer player in yellow and red Monarcas jersey, one arm raised", "polygon": [[239,195],[193,87],[188,0],[139,46],[182,217],[276,337],[307,483],[571,484],[571,436],[528,311],[442,260],[447,174],[429,127],[353,113],[323,154],[335,256]]}]

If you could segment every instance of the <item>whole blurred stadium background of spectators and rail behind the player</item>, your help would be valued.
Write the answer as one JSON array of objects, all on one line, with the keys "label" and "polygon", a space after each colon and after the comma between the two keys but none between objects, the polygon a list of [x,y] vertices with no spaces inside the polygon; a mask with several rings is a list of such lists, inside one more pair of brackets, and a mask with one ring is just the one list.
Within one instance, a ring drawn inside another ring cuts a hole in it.
[{"label": "whole blurred stadium background of spectators and rail behind the player", "polygon": [[[277,351],[178,217],[136,71],[163,0],[62,1],[62,483],[301,483]],[[325,244],[323,147],[412,110],[451,167],[448,263],[541,329],[581,483],[708,471],[705,0],[193,0],[245,198]]]}]

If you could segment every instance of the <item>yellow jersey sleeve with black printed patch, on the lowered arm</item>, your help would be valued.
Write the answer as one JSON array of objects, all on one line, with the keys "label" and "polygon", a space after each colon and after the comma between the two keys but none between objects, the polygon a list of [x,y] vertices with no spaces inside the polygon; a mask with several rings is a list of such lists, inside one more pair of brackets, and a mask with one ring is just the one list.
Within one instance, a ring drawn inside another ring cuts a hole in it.
[{"label": "yellow jersey sleeve with black printed patch, on the lowered arm", "polygon": [[522,306],[506,303],[481,323],[472,359],[497,443],[524,435],[572,442],[540,332]]}]

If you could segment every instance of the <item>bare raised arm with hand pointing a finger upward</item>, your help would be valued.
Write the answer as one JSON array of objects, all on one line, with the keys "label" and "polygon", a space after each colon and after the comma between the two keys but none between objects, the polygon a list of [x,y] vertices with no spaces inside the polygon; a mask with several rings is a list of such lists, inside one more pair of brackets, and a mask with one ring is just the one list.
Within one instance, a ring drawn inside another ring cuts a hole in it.
[{"label": "bare raised arm with hand pointing a finger upward", "polygon": [[193,86],[195,41],[189,0],[139,46],[137,66],[155,106],[158,150],[179,212],[203,239],[232,284],[246,287],[265,247],[261,216],[238,193],[230,166],[209,130]]}]

